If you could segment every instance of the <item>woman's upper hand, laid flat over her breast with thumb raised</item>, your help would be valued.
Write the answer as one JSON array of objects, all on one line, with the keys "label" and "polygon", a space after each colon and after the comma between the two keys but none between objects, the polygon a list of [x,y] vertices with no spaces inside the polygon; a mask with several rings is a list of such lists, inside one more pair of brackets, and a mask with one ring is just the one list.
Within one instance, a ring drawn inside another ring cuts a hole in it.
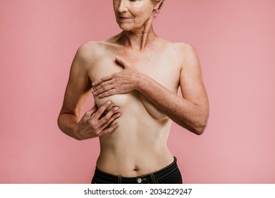
[{"label": "woman's upper hand, laid flat over her breast with thumb raised", "polygon": [[109,95],[128,93],[136,89],[141,73],[121,57],[116,57],[116,62],[123,67],[123,71],[105,76],[92,83],[92,93],[99,98]]}]

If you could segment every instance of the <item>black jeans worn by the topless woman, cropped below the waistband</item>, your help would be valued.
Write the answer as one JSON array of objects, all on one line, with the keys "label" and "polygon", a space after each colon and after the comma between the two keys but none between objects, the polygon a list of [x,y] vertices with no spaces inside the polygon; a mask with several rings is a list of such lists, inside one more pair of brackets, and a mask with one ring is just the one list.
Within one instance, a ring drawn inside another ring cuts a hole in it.
[{"label": "black jeans worn by the topless woman, cropped below the waistband", "polygon": [[182,184],[181,172],[178,169],[176,158],[173,163],[157,172],[138,177],[121,177],[104,173],[98,168],[95,169],[92,184]]}]

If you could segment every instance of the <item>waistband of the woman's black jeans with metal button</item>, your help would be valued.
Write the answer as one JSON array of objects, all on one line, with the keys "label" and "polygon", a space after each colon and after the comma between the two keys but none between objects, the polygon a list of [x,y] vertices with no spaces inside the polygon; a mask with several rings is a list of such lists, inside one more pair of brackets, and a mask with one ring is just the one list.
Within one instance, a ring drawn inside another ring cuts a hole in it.
[{"label": "waistband of the woman's black jeans with metal button", "polygon": [[94,178],[97,180],[102,180],[106,183],[123,183],[123,184],[130,184],[130,183],[157,183],[157,180],[166,177],[167,175],[170,175],[174,171],[178,170],[178,165],[176,163],[176,157],[174,157],[173,163],[166,166],[165,168],[162,168],[161,170],[158,170],[154,173],[149,173],[147,175],[140,175],[138,177],[122,177],[119,175],[111,175],[109,173],[105,173],[102,170],[99,170],[96,167],[96,170],[94,172]]}]

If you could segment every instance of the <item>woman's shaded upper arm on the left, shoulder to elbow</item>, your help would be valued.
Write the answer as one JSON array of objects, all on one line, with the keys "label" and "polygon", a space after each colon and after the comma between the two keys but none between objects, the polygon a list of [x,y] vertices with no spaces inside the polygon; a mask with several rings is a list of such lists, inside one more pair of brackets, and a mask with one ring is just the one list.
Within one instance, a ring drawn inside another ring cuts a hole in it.
[{"label": "woman's shaded upper arm on the left, shoulder to elbow", "polygon": [[87,72],[90,64],[87,51],[87,46],[81,46],[75,54],[60,114],[68,113],[79,117],[82,106],[90,95],[92,85]]}]

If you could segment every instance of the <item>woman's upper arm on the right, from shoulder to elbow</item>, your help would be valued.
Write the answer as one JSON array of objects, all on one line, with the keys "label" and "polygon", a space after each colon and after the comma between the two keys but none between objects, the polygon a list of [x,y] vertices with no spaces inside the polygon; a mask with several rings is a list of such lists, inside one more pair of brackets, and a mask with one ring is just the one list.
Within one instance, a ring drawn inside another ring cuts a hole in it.
[{"label": "woman's upper arm on the right, from shoulder to elbow", "polygon": [[209,114],[207,92],[202,81],[202,69],[197,52],[191,45],[183,47],[183,64],[181,67],[180,86],[183,98],[194,103]]}]

